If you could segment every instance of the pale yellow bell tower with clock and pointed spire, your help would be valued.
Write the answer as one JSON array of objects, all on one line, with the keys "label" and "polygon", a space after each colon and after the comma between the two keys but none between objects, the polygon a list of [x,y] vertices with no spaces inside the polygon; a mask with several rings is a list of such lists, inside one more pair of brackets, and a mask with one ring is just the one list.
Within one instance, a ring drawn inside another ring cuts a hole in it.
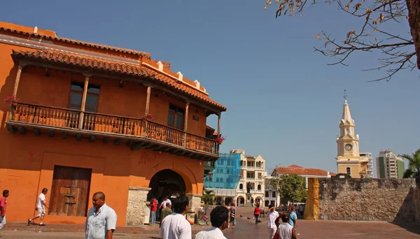
[{"label": "pale yellow bell tower with clock and pointed spire", "polygon": [[351,119],[346,91],[342,119],[339,121],[339,138],[337,138],[337,171],[346,173],[351,178],[366,178],[367,161],[360,159],[359,136],[354,133],[354,120]]}]

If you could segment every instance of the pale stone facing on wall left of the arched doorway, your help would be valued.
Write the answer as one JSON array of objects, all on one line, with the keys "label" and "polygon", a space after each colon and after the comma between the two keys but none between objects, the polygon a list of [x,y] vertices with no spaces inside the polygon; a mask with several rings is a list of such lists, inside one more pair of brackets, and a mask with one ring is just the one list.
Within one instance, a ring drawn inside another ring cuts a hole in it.
[{"label": "pale stone facing on wall left of the arched doorway", "polygon": [[130,187],[128,189],[127,226],[141,226],[144,224],[146,200],[150,187]]}]

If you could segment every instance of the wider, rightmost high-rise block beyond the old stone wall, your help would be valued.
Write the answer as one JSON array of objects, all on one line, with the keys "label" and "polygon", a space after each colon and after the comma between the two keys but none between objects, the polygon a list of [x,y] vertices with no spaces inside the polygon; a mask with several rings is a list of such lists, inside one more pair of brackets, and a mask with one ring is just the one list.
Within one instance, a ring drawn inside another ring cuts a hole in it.
[{"label": "wider, rightmost high-rise block beyond the old stone wall", "polygon": [[405,171],[404,159],[389,150],[379,152],[377,157],[377,178],[402,178]]}]

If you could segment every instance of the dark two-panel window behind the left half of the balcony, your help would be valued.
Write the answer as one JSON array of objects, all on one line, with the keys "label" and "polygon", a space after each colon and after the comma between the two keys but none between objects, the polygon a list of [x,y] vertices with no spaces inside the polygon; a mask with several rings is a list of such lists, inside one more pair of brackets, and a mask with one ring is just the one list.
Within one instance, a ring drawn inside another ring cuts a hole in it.
[{"label": "dark two-panel window behind the left half of the balcony", "polygon": [[[69,108],[73,110],[80,110],[82,106],[83,89],[85,88],[84,82],[71,82],[70,96],[69,96]],[[99,101],[99,85],[88,85],[85,111],[97,112],[97,106]]]}]

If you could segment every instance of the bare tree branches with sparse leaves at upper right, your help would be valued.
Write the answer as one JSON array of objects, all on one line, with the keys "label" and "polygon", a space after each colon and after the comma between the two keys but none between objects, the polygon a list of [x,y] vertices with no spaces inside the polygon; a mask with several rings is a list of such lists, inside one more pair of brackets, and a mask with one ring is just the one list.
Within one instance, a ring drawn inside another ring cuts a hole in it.
[{"label": "bare tree branches with sparse leaves at upper right", "polygon": [[[276,17],[281,13],[289,12],[300,13],[305,4],[309,0],[275,0],[279,4],[276,10]],[[321,39],[324,40],[322,47],[314,47],[316,52],[320,52],[324,56],[338,57],[337,61],[328,65],[342,64],[348,66],[345,61],[353,52],[374,52],[379,51],[385,57],[377,59],[379,66],[369,68],[364,71],[384,71],[386,76],[372,81],[391,80],[393,75],[398,71],[416,68],[416,61],[412,57],[416,56],[414,52],[414,41],[411,36],[400,36],[383,29],[379,29],[378,24],[384,25],[388,21],[402,22],[400,20],[407,19],[407,3],[405,0],[327,0],[325,3],[337,4],[339,10],[349,13],[353,17],[364,18],[363,24],[358,31],[351,30],[346,34],[344,41],[339,42],[334,38],[330,38],[328,34],[321,31]],[[265,8],[271,5],[272,1],[267,0]],[[317,4],[311,0],[311,6]],[[295,9],[296,7],[296,9]],[[374,36],[372,36],[374,35]],[[316,36],[320,38],[320,34]],[[379,40],[378,40],[379,38]]]}]

